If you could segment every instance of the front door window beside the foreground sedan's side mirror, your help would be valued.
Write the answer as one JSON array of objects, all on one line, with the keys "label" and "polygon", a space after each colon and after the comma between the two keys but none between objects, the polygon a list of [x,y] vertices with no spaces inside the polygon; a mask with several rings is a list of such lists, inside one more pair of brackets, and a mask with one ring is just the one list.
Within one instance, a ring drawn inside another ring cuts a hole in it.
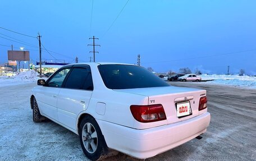
[{"label": "front door window beside the foreground sedan's side mirror", "polygon": [[59,72],[57,72],[51,80],[48,81],[47,86],[49,87],[56,87],[60,88],[62,85],[62,82],[64,81],[67,73],[70,71],[70,68],[65,68]]}]

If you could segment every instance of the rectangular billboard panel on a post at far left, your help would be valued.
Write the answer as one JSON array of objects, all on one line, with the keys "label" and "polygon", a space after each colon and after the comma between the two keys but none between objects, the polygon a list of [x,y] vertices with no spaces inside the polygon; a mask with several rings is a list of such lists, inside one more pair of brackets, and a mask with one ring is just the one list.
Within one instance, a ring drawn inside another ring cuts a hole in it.
[{"label": "rectangular billboard panel on a post at far left", "polygon": [[8,61],[29,61],[29,51],[8,50]]}]

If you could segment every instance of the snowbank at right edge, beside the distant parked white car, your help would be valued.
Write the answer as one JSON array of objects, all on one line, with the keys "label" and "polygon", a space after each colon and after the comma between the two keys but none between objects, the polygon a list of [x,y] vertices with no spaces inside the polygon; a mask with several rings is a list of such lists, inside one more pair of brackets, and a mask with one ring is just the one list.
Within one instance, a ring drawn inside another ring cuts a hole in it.
[{"label": "snowbank at right edge, beside the distant parked white car", "polygon": [[200,75],[202,80],[207,81],[205,84],[220,84],[230,86],[241,86],[246,88],[256,89],[256,77],[251,76],[239,76],[239,75]]}]

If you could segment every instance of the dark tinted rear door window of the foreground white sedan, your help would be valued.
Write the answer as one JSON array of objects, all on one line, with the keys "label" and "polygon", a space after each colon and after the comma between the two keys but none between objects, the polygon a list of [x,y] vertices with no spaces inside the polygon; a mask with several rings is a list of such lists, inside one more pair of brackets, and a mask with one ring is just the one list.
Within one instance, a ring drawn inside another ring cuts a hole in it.
[{"label": "dark tinted rear door window of the foreground white sedan", "polygon": [[64,88],[93,90],[90,67],[75,67],[67,77]]}]

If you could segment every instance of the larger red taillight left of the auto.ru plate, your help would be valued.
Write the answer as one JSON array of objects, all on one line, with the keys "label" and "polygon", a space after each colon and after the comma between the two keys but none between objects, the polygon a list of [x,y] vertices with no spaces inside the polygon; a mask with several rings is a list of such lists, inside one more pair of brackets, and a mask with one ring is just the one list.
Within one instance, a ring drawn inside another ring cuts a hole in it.
[{"label": "larger red taillight left of the auto.ru plate", "polygon": [[166,119],[162,104],[131,105],[132,116],[139,122],[155,122]]}]

